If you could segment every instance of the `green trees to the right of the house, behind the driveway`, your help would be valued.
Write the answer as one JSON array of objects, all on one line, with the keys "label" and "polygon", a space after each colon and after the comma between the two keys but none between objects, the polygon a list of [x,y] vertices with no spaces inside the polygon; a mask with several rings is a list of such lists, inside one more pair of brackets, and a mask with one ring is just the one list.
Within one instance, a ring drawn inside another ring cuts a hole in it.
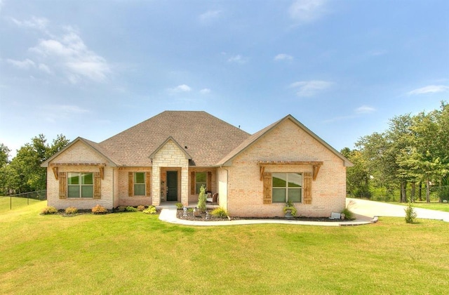
[{"label": "green trees to the right of the house, behind the driveway", "polygon": [[345,147],[342,154],[354,163],[347,170],[347,190],[354,197],[398,188],[401,202],[413,202],[417,188],[425,188],[430,202],[434,185],[441,188],[440,200],[449,199],[449,105],[441,102],[438,110],[396,116],[387,131],[363,136],[354,150]]}]

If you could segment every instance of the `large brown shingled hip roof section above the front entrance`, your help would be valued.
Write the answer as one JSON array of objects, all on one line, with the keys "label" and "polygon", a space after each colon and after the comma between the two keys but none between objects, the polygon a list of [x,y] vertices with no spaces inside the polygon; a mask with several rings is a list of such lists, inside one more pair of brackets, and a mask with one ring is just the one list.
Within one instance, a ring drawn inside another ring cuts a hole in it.
[{"label": "large brown shingled hip roof section above the front entrance", "polygon": [[149,155],[170,136],[192,157],[191,166],[214,166],[250,134],[207,112],[166,111],[98,146],[120,166],[151,166]]}]

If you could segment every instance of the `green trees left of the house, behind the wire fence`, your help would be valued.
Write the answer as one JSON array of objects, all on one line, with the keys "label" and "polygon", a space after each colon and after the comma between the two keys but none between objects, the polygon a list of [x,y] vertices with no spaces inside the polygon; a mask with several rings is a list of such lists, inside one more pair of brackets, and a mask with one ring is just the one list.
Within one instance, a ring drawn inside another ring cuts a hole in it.
[{"label": "green trees left of the house, behind the wire fence", "polygon": [[39,134],[20,147],[11,162],[8,160],[11,150],[0,143],[0,195],[46,190],[46,169],[41,164],[68,143],[60,134],[49,145],[45,136]]}]

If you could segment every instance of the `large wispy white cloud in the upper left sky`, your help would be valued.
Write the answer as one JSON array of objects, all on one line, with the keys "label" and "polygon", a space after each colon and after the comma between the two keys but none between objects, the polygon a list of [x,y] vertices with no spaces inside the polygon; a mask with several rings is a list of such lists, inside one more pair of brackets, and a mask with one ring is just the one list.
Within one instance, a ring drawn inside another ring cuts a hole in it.
[{"label": "large wispy white cloud in the upper left sky", "polygon": [[[89,50],[74,29],[67,27],[66,30],[62,37],[41,40],[29,51],[37,53],[47,64],[58,67],[72,84],[83,79],[106,81],[112,70],[105,58]],[[49,68],[41,67],[41,70]]]}]

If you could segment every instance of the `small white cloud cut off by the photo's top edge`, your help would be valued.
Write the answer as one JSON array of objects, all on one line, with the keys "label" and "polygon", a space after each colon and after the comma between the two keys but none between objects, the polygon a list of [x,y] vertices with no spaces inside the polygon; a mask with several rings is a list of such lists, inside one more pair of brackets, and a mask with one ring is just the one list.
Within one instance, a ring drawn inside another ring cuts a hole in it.
[{"label": "small white cloud cut off by the photo's top edge", "polygon": [[288,8],[290,18],[298,22],[313,22],[326,13],[326,0],[296,0]]}]

